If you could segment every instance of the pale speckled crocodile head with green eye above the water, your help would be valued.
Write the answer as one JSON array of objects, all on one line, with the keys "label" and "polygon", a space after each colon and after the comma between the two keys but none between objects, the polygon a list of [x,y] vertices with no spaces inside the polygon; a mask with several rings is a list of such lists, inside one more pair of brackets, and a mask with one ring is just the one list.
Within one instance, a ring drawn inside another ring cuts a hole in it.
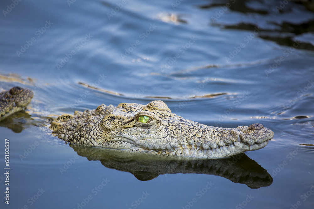
[{"label": "pale speckled crocodile head with green eye above the water", "polygon": [[186,120],[162,101],[148,105],[102,104],[95,110],[63,114],[52,133],[73,144],[185,158],[226,158],[265,147],[273,132],[255,123],[217,128]]}]

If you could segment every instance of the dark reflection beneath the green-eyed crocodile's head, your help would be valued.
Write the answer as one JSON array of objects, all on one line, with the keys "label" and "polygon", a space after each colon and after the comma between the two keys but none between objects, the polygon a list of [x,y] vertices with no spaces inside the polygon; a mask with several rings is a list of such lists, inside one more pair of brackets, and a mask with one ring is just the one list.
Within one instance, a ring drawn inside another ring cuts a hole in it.
[{"label": "dark reflection beneath the green-eyed crocodile's head", "polygon": [[88,160],[100,160],[107,168],[132,173],[142,181],[163,174],[193,173],[221,176],[252,189],[269,186],[273,182],[268,172],[244,153],[227,159],[185,160],[76,144],[70,144],[70,147]]}]

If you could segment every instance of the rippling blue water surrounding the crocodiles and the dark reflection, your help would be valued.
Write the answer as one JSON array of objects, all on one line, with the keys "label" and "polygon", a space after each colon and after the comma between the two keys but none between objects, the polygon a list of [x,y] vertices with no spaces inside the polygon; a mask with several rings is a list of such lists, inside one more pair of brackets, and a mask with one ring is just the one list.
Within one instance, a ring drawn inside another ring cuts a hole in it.
[{"label": "rippling blue water surrounding the crocodiles and the dark reflection", "polygon": [[[71,0],[12,6],[2,1],[1,87],[28,87],[35,96],[29,113],[0,124],[1,150],[4,138],[10,140],[11,167],[10,205],[2,195],[1,208],[311,208],[310,6]],[[251,189],[195,173],[140,181],[78,155],[34,125],[43,115],[71,114],[101,103],[147,104],[151,97],[206,125],[271,128],[274,139],[246,153],[268,171],[271,185]]]}]

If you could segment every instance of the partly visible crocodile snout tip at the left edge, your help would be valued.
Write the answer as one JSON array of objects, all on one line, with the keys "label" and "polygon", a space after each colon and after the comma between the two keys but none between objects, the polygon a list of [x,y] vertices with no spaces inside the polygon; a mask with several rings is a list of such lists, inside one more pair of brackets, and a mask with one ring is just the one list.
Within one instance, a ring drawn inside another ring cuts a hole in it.
[{"label": "partly visible crocodile snout tip at the left edge", "polygon": [[0,92],[0,121],[23,110],[33,96],[33,91],[19,86],[15,86],[9,91]]}]

